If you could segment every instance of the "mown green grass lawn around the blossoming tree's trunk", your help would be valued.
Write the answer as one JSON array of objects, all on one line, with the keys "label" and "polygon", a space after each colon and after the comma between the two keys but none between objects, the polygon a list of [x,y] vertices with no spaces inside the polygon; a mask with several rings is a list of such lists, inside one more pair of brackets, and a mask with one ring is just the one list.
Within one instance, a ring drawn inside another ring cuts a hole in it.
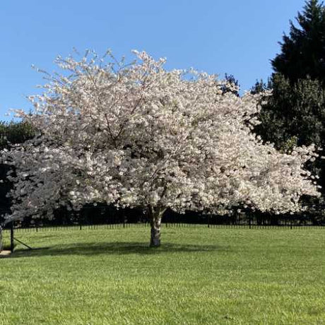
[{"label": "mown green grass lawn around the blossoming tree's trunk", "polygon": [[0,324],[325,324],[325,230],[18,232]]}]

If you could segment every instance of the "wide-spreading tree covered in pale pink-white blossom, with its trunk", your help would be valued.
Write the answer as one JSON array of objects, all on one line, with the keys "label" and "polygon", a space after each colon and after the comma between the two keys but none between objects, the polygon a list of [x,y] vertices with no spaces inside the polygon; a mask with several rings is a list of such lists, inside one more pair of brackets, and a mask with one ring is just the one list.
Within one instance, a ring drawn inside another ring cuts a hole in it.
[{"label": "wide-spreading tree covered in pale pink-white blossom, with its trunk", "polygon": [[165,59],[135,54],[131,64],[110,53],[57,59],[64,71],[30,98],[35,113],[18,112],[40,135],[4,153],[16,167],[7,222],[90,202],[141,206],[159,246],[167,208],[282,213],[318,195],[302,170],[312,146],[282,154],[252,134],[257,95],[237,97],[216,76],[166,71]]}]

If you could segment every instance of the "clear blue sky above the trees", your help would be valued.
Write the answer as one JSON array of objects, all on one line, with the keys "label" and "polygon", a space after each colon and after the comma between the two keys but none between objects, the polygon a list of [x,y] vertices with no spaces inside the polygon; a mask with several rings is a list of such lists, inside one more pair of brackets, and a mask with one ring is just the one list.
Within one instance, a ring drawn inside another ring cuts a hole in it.
[{"label": "clear blue sky above the trees", "polygon": [[146,50],[167,69],[233,74],[242,90],[266,79],[278,41],[304,0],[10,0],[0,4],[0,120],[30,109],[42,76],[58,54],[112,49],[117,57]]}]

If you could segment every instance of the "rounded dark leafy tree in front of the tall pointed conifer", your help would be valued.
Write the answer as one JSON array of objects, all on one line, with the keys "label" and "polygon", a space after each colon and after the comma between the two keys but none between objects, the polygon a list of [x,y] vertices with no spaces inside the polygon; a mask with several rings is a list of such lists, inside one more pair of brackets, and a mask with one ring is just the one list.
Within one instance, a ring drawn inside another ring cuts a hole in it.
[{"label": "rounded dark leafy tree in front of the tall pointed conifer", "polygon": [[320,81],[306,78],[292,85],[288,78],[274,74],[272,85],[273,93],[264,98],[256,133],[278,148],[293,138],[299,146],[324,146],[325,90]]}]

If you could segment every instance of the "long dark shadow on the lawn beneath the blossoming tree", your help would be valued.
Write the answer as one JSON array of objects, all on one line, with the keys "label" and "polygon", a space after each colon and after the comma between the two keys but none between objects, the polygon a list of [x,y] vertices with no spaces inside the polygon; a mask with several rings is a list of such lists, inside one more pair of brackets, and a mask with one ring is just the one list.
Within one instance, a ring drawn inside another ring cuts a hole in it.
[{"label": "long dark shadow on the lawn beneath the blossoming tree", "polygon": [[124,254],[161,254],[184,252],[220,252],[227,247],[215,245],[172,244],[163,243],[158,248],[150,248],[143,242],[107,242],[107,243],[76,243],[53,247],[37,247],[37,249],[17,249],[12,258],[29,256],[60,256],[60,255],[124,255]]}]

